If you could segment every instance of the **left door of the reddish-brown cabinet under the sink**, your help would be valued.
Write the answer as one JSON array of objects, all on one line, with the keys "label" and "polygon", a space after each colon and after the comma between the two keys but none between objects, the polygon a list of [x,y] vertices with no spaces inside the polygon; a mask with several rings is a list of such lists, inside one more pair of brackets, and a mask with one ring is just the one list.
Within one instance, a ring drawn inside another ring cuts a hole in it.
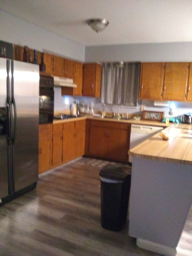
[{"label": "left door of the reddish-brown cabinet under the sink", "polygon": [[108,153],[108,133],[106,128],[91,127],[89,140],[89,155],[106,158]]}]

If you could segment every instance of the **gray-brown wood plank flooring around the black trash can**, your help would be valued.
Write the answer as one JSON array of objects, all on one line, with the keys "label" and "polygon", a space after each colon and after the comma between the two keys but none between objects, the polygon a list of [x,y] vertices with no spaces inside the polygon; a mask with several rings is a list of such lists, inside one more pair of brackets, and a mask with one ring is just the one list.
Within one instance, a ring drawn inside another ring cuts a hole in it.
[{"label": "gray-brown wood plank flooring around the black trash can", "polygon": [[[0,255],[158,256],[140,249],[125,227],[101,227],[101,168],[81,158],[40,176],[37,188],[0,206]],[[178,256],[192,255],[192,212]]]}]

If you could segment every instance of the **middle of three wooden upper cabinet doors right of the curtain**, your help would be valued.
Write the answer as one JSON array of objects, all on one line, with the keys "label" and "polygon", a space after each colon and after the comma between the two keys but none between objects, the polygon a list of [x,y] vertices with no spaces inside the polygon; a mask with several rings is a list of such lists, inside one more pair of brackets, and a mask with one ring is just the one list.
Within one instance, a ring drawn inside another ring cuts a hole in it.
[{"label": "middle of three wooden upper cabinet doors right of the curtain", "polygon": [[184,101],[188,82],[189,63],[168,62],[165,67],[164,100]]}]

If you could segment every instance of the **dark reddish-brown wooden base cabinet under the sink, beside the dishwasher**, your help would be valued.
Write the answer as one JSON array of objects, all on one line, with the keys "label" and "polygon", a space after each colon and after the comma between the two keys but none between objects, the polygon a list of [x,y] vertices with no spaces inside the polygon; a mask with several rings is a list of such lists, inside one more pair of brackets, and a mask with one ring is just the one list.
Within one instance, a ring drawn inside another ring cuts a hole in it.
[{"label": "dark reddish-brown wooden base cabinet under the sink, beside the dishwasher", "polygon": [[130,133],[130,124],[91,121],[88,155],[112,161],[127,162]]}]

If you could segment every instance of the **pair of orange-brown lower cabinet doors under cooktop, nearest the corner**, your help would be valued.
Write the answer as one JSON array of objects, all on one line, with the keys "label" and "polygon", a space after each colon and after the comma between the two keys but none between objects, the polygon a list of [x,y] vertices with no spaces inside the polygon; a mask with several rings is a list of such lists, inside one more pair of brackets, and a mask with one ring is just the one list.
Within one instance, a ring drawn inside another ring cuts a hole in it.
[{"label": "pair of orange-brown lower cabinet doors under cooktop, nearest the corner", "polygon": [[85,154],[85,120],[63,124],[63,163]]}]

